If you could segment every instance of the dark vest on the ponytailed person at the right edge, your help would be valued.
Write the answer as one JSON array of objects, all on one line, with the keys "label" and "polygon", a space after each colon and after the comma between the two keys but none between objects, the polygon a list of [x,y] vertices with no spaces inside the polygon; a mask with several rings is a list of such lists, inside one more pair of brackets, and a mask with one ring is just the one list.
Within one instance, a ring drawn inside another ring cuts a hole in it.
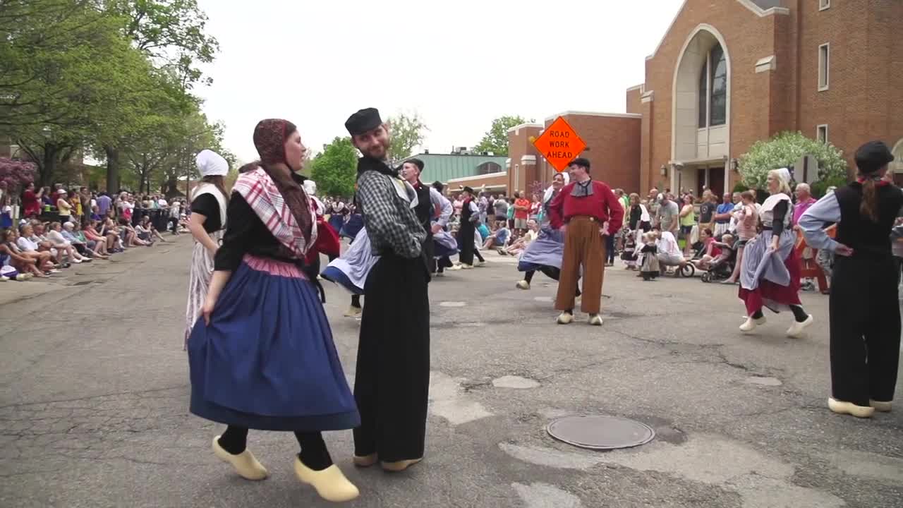
[{"label": "dark vest on the ponytailed person at the right edge", "polygon": [[894,185],[878,186],[879,218],[872,222],[859,211],[862,202],[862,184],[851,183],[834,191],[841,207],[841,221],[837,224],[835,240],[853,249],[853,256],[889,257],[890,229],[893,228],[900,208],[903,192]]}]

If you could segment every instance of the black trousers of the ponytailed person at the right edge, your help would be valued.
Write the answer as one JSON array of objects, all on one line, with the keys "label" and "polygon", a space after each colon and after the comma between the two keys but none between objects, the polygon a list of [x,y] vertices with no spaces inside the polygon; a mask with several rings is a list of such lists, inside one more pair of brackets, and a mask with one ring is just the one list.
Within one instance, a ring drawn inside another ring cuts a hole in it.
[{"label": "black trousers of the ponytailed person at the right edge", "polygon": [[894,259],[837,256],[831,278],[831,387],[834,399],[868,406],[894,398],[900,310]]}]

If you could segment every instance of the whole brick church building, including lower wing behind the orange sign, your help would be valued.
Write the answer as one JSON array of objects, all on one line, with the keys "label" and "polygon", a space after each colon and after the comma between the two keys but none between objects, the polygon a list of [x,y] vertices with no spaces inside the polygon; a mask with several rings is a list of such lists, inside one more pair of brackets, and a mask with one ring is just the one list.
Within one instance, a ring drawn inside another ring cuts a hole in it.
[{"label": "whole brick church building, including lower wing behind the orange sign", "polygon": [[[881,139],[903,174],[903,2],[685,0],[627,90],[626,114],[560,113],[586,141],[582,155],[613,187],[719,193],[740,180],[754,142],[798,130],[847,156]],[[548,182],[532,136],[508,132],[508,189]]]}]

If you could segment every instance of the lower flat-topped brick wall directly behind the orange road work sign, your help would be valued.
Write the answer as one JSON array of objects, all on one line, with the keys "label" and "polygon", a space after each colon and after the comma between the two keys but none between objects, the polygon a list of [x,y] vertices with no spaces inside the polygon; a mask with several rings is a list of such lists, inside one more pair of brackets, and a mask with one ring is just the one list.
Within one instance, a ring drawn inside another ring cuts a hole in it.
[{"label": "lower flat-topped brick wall directly behind the orange road work sign", "polygon": [[[573,114],[563,117],[589,147],[581,156],[590,159],[593,178],[608,183],[613,189],[619,187],[628,193],[639,191],[642,118]],[[546,127],[553,121],[554,118],[545,120]]]}]

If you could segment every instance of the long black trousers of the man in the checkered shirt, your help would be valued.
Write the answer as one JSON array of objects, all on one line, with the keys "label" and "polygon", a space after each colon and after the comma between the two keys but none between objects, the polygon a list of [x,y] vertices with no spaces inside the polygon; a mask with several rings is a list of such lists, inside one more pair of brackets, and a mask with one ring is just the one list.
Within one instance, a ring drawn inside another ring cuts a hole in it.
[{"label": "long black trousers of the man in the checkered shirt", "polygon": [[355,455],[396,462],[424,456],[430,390],[430,304],[421,258],[383,255],[370,270],[360,320]]}]

